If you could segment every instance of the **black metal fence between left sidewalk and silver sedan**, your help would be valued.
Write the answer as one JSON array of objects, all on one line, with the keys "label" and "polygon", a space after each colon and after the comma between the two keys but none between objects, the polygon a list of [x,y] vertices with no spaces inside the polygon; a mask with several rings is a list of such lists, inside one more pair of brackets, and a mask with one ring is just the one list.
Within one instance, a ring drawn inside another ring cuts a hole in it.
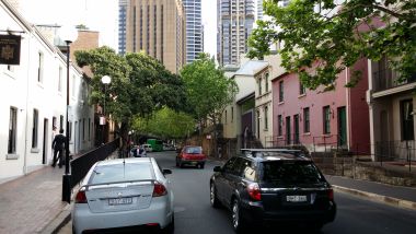
[{"label": "black metal fence between left sidewalk and silver sedan", "polygon": [[119,147],[119,139],[103,144],[71,161],[71,188],[81,182],[91,166],[107,159]]}]

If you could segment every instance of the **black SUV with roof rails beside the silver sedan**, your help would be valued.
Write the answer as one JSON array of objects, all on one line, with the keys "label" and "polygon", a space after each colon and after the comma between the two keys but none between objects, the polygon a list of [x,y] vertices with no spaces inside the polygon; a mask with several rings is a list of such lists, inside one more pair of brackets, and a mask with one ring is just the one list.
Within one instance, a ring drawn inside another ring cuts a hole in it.
[{"label": "black SUV with roof rails beside the silver sedan", "polygon": [[305,225],[334,221],[334,191],[315,164],[296,150],[243,149],[210,178],[210,202],[231,210],[241,232],[249,223]]}]

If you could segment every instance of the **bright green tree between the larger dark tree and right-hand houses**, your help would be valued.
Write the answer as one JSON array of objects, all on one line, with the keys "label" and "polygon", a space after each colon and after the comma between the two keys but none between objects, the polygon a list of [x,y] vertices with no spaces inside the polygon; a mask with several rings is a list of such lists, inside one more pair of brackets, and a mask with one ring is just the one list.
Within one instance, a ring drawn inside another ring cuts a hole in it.
[{"label": "bright green tree between the larger dark tree and right-hand houses", "polygon": [[216,126],[238,92],[234,80],[228,79],[207,54],[199,54],[195,61],[186,65],[181,70],[181,77],[185,83],[189,112],[199,124],[209,120]]}]

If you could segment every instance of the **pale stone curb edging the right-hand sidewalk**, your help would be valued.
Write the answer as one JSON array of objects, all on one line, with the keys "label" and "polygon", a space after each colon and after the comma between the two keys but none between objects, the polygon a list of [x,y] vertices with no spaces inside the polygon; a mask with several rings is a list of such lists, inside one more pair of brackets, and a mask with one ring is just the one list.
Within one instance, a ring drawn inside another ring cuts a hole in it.
[{"label": "pale stone curb edging the right-hand sidewalk", "polygon": [[402,200],[402,199],[388,197],[388,196],[383,196],[383,195],[377,195],[377,194],[357,190],[357,189],[353,189],[353,188],[346,188],[346,187],[342,187],[342,186],[337,186],[337,185],[333,185],[333,188],[336,191],[359,196],[362,198],[370,199],[372,201],[379,201],[379,202],[383,202],[383,203],[394,206],[394,207],[416,210],[416,202],[413,202],[413,201]]}]

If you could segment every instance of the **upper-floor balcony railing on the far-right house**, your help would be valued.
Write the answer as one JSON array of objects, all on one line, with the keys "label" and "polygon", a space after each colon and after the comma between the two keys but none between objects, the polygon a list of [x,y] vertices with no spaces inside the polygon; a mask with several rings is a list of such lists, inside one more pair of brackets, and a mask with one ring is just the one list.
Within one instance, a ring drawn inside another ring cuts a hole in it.
[{"label": "upper-floor balcony railing on the far-right house", "polygon": [[374,81],[374,91],[384,91],[392,87],[416,82],[416,73],[405,80],[398,79],[398,73],[390,69],[375,71],[372,73]]}]

